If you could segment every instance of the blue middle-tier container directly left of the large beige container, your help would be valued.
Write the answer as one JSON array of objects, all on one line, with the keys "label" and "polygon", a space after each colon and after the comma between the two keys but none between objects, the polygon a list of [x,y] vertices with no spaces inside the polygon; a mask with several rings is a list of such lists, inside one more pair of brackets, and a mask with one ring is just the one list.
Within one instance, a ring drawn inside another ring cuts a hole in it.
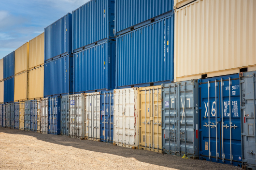
[{"label": "blue middle-tier container directly left of the large beige container", "polygon": [[117,37],[116,86],[173,80],[174,14]]}]

